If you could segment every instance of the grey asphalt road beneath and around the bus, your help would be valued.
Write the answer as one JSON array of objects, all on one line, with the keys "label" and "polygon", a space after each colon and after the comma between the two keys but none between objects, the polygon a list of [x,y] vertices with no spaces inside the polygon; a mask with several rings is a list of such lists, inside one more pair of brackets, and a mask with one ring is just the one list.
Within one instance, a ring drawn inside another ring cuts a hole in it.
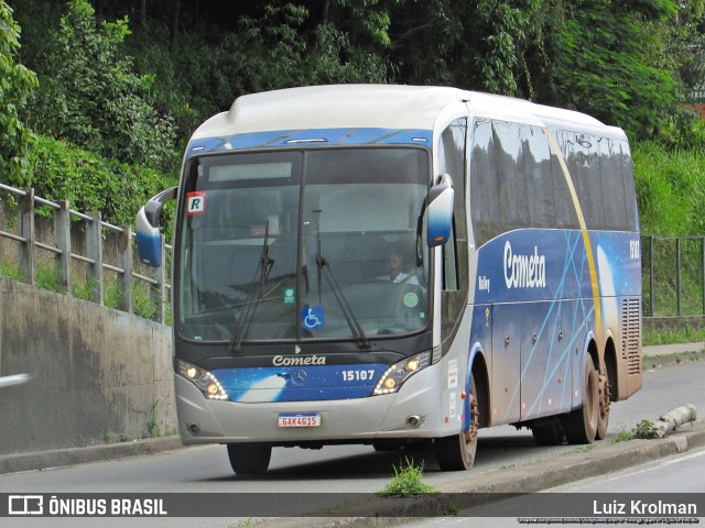
[{"label": "grey asphalt road beneath and around the bus", "polygon": [[[673,364],[644,373],[644,387],[627,402],[612,406],[608,446],[620,430],[643,418],[657,419],[671,408],[693,404],[705,409],[705,361]],[[480,482],[484,475],[508,472],[531,461],[556,459],[581,448],[534,446],[531,433],[510,427],[482,430],[475,468],[469,472],[441,472],[432,451],[411,453],[424,462],[424,482],[442,488]],[[180,449],[170,453],[105,461],[54,470],[0,475],[0,493],[373,493],[389,482],[393,466],[409,453],[378,453],[371,447],[327,447],[319,451],[274,449],[270,472],[260,477],[234,475],[225,448]],[[558,459],[560,460],[560,459]],[[9,522],[6,522],[9,520]],[[2,519],[2,526],[135,526],[134,519]],[[84,521],[87,521],[84,524]],[[166,522],[167,521],[167,522]],[[140,519],[139,526],[227,527],[242,519]],[[302,525],[302,526],[305,526]]]}]

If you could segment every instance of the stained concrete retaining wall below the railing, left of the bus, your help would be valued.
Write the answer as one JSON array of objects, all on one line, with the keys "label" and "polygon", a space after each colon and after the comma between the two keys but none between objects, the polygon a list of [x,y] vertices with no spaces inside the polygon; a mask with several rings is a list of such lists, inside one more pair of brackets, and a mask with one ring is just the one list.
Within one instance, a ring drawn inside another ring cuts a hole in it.
[{"label": "stained concrete retaining wall below the railing, left of the bus", "polygon": [[0,454],[175,430],[171,329],[0,278]]}]

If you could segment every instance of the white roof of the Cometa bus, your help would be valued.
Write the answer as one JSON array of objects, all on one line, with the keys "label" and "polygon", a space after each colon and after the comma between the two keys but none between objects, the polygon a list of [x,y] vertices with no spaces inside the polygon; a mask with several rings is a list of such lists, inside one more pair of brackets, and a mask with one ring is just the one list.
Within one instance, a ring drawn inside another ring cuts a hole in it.
[{"label": "white roof of the Cometa bus", "polygon": [[469,103],[473,116],[575,132],[595,133],[599,129],[601,135],[623,138],[620,129],[584,113],[510,97],[448,87],[332,85],[241,96],[229,111],[202,124],[193,139],[307,129],[433,130],[442,110],[463,102]]}]

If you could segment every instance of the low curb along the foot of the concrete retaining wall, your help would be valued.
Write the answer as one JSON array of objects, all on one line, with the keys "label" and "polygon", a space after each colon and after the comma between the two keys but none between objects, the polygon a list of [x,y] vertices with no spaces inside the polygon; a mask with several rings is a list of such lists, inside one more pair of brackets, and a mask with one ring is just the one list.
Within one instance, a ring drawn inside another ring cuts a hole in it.
[{"label": "low curb along the foot of the concrete retaining wall", "polygon": [[181,437],[161,437],[132,442],[88,446],[85,448],[55,449],[34,453],[7,454],[0,457],[0,474],[20,471],[45,470],[62,465],[105,462],[145,454],[159,454],[181,449]]}]

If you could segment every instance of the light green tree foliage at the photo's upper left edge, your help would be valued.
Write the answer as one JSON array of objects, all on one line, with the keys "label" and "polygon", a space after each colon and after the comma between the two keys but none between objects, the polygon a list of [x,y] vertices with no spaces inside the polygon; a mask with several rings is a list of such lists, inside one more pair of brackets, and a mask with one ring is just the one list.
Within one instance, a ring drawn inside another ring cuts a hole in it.
[{"label": "light green tree foliage at the photo's upper left edge", "polygon": [[20,28],[12,19],[12,10],[0,0],[0,180],[21,185],[33,135],[19,113],[36,88],[36,76],[14,61],[19,38]]}]

